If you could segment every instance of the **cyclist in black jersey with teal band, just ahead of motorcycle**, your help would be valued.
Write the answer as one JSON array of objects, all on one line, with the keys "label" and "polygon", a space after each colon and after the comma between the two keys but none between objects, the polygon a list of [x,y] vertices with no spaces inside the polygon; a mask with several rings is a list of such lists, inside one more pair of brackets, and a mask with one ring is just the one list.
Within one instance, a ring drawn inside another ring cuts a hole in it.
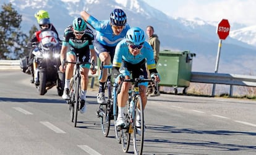
[{"label": "cyclist in black jersey with teal band, just ahead of motorcycle", "polygon": [[[73,25],[70,25],[64,31],[64,40],[62,41],[61,48],[61,63],[63,60],[67,60],[68,62],[76,62],[76,52],[79,52],[79,61],[80,62],[91,62],[94,60],[96,62],[96,54],[93,49],[93,31],[87,27],[87,24],[82,18],[76,18],[73,21]],[[70,47],[69,47],[70,46]],[[64,65],[64,64],[62,64]],[[65,86],[64,93],[62,95],[63,99],[70,99],[69,97],[69,83],[70,79],[73,75],[74,65],[75,64],[67,64],[64,65],[64,68],[60,66],[61,72],[65,72],[66,69],[66,77],[65,77]],[[80,101],[80,113],[84,113],[86,110],[86,93],[87,93],[87,85],[88,85],[88,72],[90,69],[90,64],[80,65],[81,72],[81,101]],[[91,69],[92,74],[96,73],[96,70]]]}]

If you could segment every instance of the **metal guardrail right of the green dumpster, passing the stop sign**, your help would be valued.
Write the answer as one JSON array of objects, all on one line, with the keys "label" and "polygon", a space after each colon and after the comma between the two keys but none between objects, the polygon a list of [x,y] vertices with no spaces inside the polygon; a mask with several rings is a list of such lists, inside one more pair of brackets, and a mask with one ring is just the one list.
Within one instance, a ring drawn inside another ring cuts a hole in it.
[{"label": "metal guardrail right of the green dumpster, passing the stop sign", "polygon": [[229,73],[191,72],[190,82],[230,85],[229,96],[233,96],[233,85],[256,87],[256,76]]}]

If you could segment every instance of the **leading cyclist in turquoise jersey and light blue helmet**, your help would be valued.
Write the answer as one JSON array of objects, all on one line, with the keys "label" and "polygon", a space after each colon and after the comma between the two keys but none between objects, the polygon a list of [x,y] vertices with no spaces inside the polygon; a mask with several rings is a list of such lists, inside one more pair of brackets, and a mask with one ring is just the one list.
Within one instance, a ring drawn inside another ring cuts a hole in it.
[{"label": "leading cyclist in turquoise jersey and light blue helmet", "polygon": [[[120,41],[116,46],[112,69],[113,77],[116,78],[116,82],[118,83],[121,83],[122,78],[130,78],[130,72],[132,72],[132,78],[147,78],[145,62],[147,62],[151,77],[155,78],[155,82],[160,82],[160,75],[158,75],[156,70],[153,49],[145,41],[144,31],[139,27],[132,27],[127,31],[126,39]],[[128,99],[130,85],[130,82],[123,82],[121,92],[117,95],[117,126],[124,125],[124,107]],[[143,109],[145,109],[147,104],[147,85],[147,82],[139,84]],[[140,111],[143,109],[140,109]],[[136,118],[136,126],[140,127],[140,115]]]}]

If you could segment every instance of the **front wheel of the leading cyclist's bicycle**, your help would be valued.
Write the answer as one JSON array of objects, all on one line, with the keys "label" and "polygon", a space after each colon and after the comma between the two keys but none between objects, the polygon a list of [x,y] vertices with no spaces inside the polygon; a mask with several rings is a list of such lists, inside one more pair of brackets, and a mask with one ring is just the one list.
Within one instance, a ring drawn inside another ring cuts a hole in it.
[{"label": "front wheel of the leading cyclist's bicycle", "polygon": [[136,121],[134,121],[134,133],[133,133],[133,143],[134,143],[134,154],[142,154],[143,143],[144,143],[144,115],[143,115],[143,104],[140,95],[135,97],[135,103],[140,106],[139,108],[135,106],[134,120],[136,120],[137,115],[140,115],[140,127],[136,127]]}]

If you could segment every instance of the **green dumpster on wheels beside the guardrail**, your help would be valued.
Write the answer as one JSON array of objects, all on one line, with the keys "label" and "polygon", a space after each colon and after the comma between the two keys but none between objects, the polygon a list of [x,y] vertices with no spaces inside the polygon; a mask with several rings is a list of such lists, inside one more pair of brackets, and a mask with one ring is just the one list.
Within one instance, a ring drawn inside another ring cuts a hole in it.
[{"label": "green dumpster on wheels beside the guardrail", "polygon": [[195,54],[189,51],[160,51],[160,59],[156,67],[161,76],[159,85],[174,87],[175,94],[178,87],[184,87],[182,93],[186,94],[187,87],[190,85],[194,56]]}]

